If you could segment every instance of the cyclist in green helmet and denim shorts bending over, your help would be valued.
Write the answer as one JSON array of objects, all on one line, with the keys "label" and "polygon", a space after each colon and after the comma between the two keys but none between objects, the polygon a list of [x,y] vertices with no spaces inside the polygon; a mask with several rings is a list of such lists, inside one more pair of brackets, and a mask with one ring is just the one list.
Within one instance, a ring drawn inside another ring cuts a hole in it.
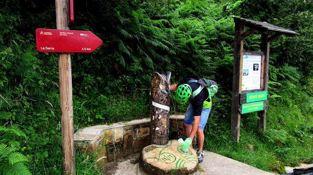
[{"label": "cyclist in green helmet and denim shorts bending over", "polygon": [[176,100],[179,104],[184,104],[189,101],[189,106],[184,118],[184,127],[187,138],[184,143],[182,143],[181,147],[184,147],[184,149],[188,148],[192,143],[194,136],[197,134],[197,156],[200,163],[203,161],[204,156],[202,151],[204,143],[203,130],[212,108],[211,97],[218,90],[216,82],[212,80],[209,81],[211,82],[210,88],[213,89],[211,93],[201,87],[198,80],[194,78],[184,78],[179,84],[172,84],[170,86],[170,91],[176,91]]}]

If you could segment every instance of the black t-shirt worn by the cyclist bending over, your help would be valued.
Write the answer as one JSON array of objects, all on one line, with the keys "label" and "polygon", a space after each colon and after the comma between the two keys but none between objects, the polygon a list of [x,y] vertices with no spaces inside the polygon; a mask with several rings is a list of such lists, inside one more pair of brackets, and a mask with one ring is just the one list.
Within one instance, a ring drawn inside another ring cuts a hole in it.
[{"label": "black t-shirt worn by the cyclist bending over", "polygon": [[[197,79],[194,79],[194,78],[184,78],[183,80],[181,80],[179,82],[179,84],[177,85],[177,87],[180,85],[180,84],[187,84],[187,82],[189,80],[195,80],[197,81]],[[195,90],[197,90],[200,86],[199,83],[197,82],[192,82],[192,83],[189,83],[190,87],[191,87],[191,90],[192,92],[194,92]],[[194,116],[200,116],[201,115],[201,112],[202,112],[202,107],[203,107],[203,102],[205,101],[205,99],[207,98],[206,101],[210,101],[210,98],[208,98],[208,92],[205,90],[205,89],[202,89],[202,91],[196,96],[194,97],[193,99],[191,99],[191,97],[189,98],[189,101],[190,103],[193,105],[194,107]]]}]

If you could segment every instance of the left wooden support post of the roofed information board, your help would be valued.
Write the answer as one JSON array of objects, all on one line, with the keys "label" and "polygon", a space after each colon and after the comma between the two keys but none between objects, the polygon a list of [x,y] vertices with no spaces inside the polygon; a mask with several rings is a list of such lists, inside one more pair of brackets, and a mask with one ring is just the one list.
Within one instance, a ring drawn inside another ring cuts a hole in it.
[{"label": "left wooden support post of the roofed information board", "polygon": [[238,112],[242,85],[242,64],[244,54],[244,40],[241,35],[244,33],[244,26],[235,22],[235,39],[234,39],[234,74],[233,74],[233,94],[231,105],[231,136],[239,142],[240,117]]}]

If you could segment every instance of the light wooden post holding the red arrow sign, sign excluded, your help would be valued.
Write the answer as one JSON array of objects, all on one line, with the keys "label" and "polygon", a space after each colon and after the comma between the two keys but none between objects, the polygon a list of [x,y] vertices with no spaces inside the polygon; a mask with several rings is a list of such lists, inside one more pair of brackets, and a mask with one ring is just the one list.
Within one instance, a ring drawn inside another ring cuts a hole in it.
[{"label": "light wooden post holding the red arrow sign, sign excluded", "polygon": [[[67,25],[67,0],[56,0],[55,6],[57,29],[69,30],[69,26]],[[59,54],[59,81],[63,173],[64,175],[75,175],[72,73],[70,53]]]}]

